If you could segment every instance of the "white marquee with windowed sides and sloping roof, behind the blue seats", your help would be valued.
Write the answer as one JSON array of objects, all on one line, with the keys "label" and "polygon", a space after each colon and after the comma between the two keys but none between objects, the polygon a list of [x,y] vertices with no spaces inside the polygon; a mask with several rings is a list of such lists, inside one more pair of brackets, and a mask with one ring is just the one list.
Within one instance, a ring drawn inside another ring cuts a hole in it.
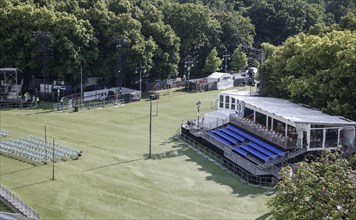
[{"label": "white marquee with windowed sides and sloping roof, behind the blue seats", "polygon": [[[227,120],[285,149],[315,151],[334,149],[338,145],[355,147],[356,122],[340,116],[284,99],[249,96],[237,90],[219,93],[217,102],[220,118],[229,116]],[[213,115],[208,113],[206,118]]]}]

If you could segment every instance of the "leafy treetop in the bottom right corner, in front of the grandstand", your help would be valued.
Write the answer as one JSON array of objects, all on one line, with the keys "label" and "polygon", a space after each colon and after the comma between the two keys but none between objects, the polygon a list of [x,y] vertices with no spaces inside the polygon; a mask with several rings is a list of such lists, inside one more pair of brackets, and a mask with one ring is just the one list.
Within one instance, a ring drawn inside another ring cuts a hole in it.
[{"label": "leafy treetop in the bottom right corner, in front of the grandstand", "polygon": [[299,163],[294,173],[283,168],[269,202],[273,218],[355,219],[355,159],[325,152],[316,161]]}]

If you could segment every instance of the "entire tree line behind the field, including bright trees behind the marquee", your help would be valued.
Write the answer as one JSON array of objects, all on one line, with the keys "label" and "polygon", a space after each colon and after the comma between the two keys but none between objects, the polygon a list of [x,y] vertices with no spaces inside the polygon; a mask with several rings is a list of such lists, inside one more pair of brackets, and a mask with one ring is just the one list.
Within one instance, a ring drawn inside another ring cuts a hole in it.
[{"label": "entire tree line behind the field, including bright trees behind the marquee", "polygon": [[76,86],[82,68],[130,85],[139,62],[143,78],[166,79],[187,74],[188,57],[193,78],[229,54],[230,71],[266,61],[265,95],[356,119],[353,0],[1,0],[0,22],[0,66],[27,80]]}]

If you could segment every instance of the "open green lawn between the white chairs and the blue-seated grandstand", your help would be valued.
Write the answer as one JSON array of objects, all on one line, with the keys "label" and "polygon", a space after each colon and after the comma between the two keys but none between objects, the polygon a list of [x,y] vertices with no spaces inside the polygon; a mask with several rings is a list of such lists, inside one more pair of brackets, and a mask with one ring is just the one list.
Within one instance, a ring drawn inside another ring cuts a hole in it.
[{"label": "open green lawn between the white chairs and the blue-seated grandstand", "polygon": [[[181,121],[212,111],[218,91],[160,91],[147,159],[149,101],[120,107],[1,112],[11,138],[35,135],[83,151],[80,160],[33,166],[0,156],[0,181],[42,219],[265,219],[270,190],[241,183],[174,136]],[[156,106],[153,102],[153,113]],[[3,139],[4,140],[4,139]]]}]

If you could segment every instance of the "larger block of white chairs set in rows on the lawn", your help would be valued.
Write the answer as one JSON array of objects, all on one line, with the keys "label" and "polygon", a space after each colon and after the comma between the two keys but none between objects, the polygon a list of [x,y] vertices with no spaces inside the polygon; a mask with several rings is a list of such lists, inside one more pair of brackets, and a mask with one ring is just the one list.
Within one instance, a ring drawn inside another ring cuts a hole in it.
[{"label": "larger block of white chairs set in rows on the lawn", "polygon": [[0,152],[13,154],[35,162],[47,162],[53,157],[55,160],[73,159],[80,154],[79,150],[45,142],[45,140],[30,136],[30,138],[19,138],[0,142]]}]

